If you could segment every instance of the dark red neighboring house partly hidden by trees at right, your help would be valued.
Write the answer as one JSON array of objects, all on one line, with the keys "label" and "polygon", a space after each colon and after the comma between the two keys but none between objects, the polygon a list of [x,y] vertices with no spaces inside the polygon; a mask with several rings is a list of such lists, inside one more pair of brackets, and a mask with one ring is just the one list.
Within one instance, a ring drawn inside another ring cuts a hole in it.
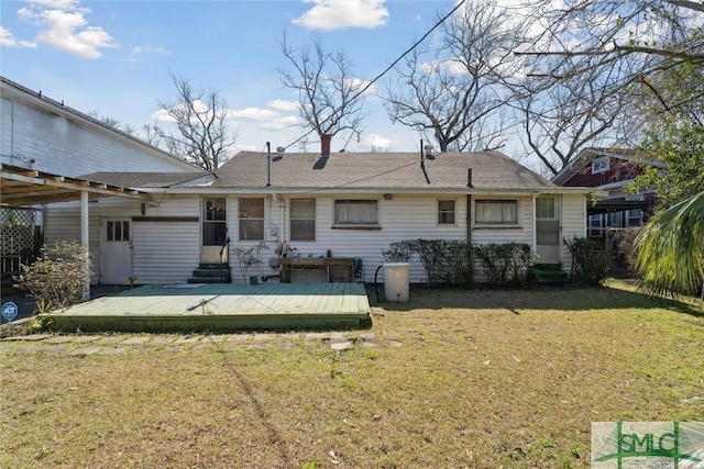
[{"label": "dark red neighboring house partly hidden by trees at right", "polygon": [[608,196],[587,203],[590,237],[603,238],[607,228],[641,226],[657,205],[654,191],[626,193],[626,186],[644,172],[644,165],[662,169],[659,161],[644,161],[635,149],[585,148],[553,178],[562,187],[591,187]]}]

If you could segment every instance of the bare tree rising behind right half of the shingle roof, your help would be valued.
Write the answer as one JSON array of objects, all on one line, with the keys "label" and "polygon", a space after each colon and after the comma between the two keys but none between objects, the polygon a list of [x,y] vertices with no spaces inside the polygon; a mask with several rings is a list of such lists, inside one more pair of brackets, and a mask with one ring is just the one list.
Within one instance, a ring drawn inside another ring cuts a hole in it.
[{"label": "bare tree rising behind right half of the shingle roof", "polygon": [[510,74],[519,27],[507,27],[506,11],[474,1],[442,24],[440,44],[414,49],[386,86],[386,111],[435,139],[441,152],[496,149],[504,145],[510,94],[501,77]]}]

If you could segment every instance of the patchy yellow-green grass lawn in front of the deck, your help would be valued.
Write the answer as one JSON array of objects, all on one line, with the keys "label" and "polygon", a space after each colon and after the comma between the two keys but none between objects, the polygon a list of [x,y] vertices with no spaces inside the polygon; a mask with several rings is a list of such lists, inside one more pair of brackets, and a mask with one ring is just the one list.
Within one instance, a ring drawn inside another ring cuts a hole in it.
[{"label": "patchy yellow-green grass lawn in front of the deck", "polygon": [[701,304],[609,284],[411,290],[343,351],[3,342],[0,467],[586,468],[592,422],[704,421]]}]

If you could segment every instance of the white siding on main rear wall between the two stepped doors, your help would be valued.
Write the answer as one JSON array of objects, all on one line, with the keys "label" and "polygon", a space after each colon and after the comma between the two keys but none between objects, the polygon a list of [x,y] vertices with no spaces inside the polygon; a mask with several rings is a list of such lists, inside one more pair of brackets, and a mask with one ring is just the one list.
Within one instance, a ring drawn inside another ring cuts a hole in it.
[{"label": "white siding on main rear wall between the two stepped doors", "polygon": [[[310,199],[310,196],[296,196],[295,198]],[[358,280],[374,281],[374,275],[378,266],[384,264],[383,250],[389,245],[403,239],[454,239],[466,241],[466,194],[393,194],[392,200],[385,200],[383,194],[376,197],[365,194],[340,193],[334,197],[314,197],[316,199],[316,241],[293,242],[292,249],[297,248],[301,257],[324,256],[327,250],[331,250],[334,257],[353,257],[362,259],[364,276]],[[282,226],[282,208],[275,200],[268,199],[265,202],[265,233],[271,228],[277,230],[279,236],[288,241],[290,223],[288,206],[290,197],[285,197],[284,224]],[[378,228],[376,230],[349,230],[333,227],[333,208],[336,199],[374,199],[378,204]],[[486,199],[486,197],[482,197]],[[519,203],[520,226],[510,228],[486,228],[473,227],[472,242],[480,244],[488,243],[526,243],[532,246],[532,198],[513,198]],[[438,201],[455,201],[455,224],[438,224]],[[474,201],[472,201],[472,204]],[[258,275],[258,266],[251,266],[249,270],[242,271],[238,264],[237,249],[256,246],[257,242],[239,242],[238,233],[238,198],[230,197],[230,259],[232,266],[233,281],[248,281],[248,277]],[[473,205],[472,205],[473,206]],[[276,256],[277,247],[275,241],[267,236],[266,247],[260,250],[263,275],[274,275],[277,270],[268,266],[270,257]],[[383,281],[383,270],[380,271],[378,281]],[[428,281],[422,264],[417,256],[410,260],[409,280],[413,283],[425,283]]]}]

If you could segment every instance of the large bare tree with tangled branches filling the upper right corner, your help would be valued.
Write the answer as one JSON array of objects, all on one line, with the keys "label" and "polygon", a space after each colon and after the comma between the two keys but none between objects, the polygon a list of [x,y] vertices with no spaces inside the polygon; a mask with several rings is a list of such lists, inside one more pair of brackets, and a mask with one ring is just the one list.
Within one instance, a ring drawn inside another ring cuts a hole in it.
[{"label": "large bare tree with tangled branches filling the upper right corner", "polygon": [[526,146],[551,172],[584,146],[639,141],[653,109],[681,112],[691,103],[693,93],[682,99],[671,82],[673,70],[704,66],[701,3],[584,0],[556,8],[551,0],[529,0],[522,5],[538,33],[517,52],[527,59],[527,74],[515,103]]}]

